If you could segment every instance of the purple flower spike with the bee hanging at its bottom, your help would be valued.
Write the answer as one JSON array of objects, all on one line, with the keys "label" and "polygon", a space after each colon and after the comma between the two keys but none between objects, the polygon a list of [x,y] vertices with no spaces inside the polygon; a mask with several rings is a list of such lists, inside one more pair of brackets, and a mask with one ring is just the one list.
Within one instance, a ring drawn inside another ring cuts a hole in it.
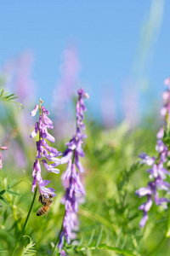
[{"label": "purple flower spike with the bee hanging at its bottom", "polygon": [[[31,137],[36,137],[39,131],[39,139],[37,141],[37,157],[33,165],[33,183],[31,191],[34,192],[34,189],[38,185],[39,193],[43,197],[48,197],[48,195],[55,196],[54,189],[46,188],[46,185],[50,183],[48,180],[42,180],[41,175],[41,166],[40,159],[42,159],[42,164],[46,168],[48,172],[59,173],[59,169],[55,168],[60,165],[60,160],[57,156],[61,155],[61,153],[53,147],[50,147],[46,140],[50,143],[54,143],[54,137],[48,133],[48,129],[53,129],[53,122],[48,118],[49,112],[42,106],[42,100],[40,99],[40,105],[36,105],[36,107],[31,111],[31,116],[35,116],[37,110],[39,109],[39,120],[36,122],[35,130],[31,132]],[[49,153],[49,154],[48,154]],[[48,161],[52,161],[53,163],[48,165]]]}]

